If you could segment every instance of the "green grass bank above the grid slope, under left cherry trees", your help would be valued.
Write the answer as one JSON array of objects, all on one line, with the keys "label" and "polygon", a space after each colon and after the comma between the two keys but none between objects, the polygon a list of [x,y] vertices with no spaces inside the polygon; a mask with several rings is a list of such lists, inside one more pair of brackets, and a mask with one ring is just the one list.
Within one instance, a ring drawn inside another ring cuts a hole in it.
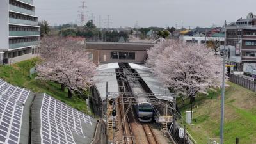
[{"label": "green grass bank above the grid slope, under left cherry trees", "polygon": [[30,69],[40,62],[41,60],[39,58],[33,58],[31,60],[15,63],[11,66],[0,66],[0,77],[10,84],[27,88],[35,93],[47,93],[72,108],[82,111],[83,113],[88,113],[86,101],[84,99],[81,99],[76,95],[74,95],[72,99],[68,99],[67,90],[60,90],[60,84],[51,81],[41,81],[35,79],[35,76],[29,76]]}]

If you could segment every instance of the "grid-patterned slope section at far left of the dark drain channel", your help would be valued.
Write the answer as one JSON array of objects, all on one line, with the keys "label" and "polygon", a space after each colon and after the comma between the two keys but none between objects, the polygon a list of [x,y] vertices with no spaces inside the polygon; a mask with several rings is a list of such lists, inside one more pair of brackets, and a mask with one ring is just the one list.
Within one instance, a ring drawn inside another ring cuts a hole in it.
[{"label": "grid-patterned slope section at far left of the dark drain channel", "polygon": [[0,79],[0,143],[19,143],[22,113],[29,93]]}]

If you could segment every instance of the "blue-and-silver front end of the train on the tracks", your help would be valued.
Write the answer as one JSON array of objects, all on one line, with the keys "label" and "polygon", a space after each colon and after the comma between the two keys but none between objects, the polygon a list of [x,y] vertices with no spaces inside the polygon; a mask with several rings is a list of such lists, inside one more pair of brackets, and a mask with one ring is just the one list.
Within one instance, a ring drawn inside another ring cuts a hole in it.
[{"label": "blue-and-silver front end of the train on the tracks", "polygon": [[148,102],[138,104],[137,115],[140,122],[151,122],[153,118],[152,104]]}]

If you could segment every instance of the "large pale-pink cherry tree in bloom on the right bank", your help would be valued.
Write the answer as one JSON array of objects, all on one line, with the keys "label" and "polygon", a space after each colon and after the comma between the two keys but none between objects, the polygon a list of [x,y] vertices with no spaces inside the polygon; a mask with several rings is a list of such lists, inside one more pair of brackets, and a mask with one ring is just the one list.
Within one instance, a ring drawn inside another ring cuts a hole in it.
[{"label": "large pale-pink cherry tree in bloom on the right bank", "polygon": [[148,51],[147,65],[168,87],[191,99],[192,111],[197,93],[207,94],[209,88],[220,87],[222,60],[204,45],[173,40],[163,43]]}]

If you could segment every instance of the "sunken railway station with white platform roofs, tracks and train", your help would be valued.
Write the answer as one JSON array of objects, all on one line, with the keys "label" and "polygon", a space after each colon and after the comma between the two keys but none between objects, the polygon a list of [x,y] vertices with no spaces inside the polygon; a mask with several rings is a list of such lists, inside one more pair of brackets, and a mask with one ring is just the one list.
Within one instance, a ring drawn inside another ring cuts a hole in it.
[{"label": "sunken railway station with white platform roofs, tracks and train", "polygon": [[166,142],[163,136],[156,136],[159,132],[153,132],[153,127],[170,131],[175,94],[150,68],[135,63],[102,64],[94,82],[91,101],[106,122],[108,143]]}]

